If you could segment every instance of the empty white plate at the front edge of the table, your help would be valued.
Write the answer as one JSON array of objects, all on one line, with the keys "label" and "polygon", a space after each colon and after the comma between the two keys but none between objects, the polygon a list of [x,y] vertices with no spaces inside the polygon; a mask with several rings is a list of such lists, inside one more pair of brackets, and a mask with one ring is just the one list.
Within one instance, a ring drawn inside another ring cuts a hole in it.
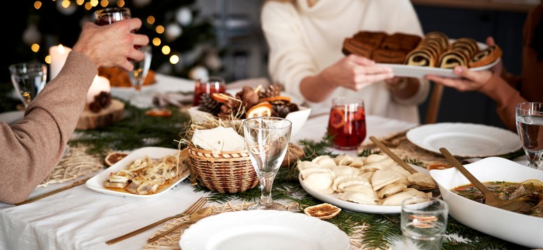
[{"label": "empty white plate at the front edge of the table", "polygon": [[276,210],[243,210],[200,220],[184,231],[183,250],[347,250],[349,238],[329,222]]}]

